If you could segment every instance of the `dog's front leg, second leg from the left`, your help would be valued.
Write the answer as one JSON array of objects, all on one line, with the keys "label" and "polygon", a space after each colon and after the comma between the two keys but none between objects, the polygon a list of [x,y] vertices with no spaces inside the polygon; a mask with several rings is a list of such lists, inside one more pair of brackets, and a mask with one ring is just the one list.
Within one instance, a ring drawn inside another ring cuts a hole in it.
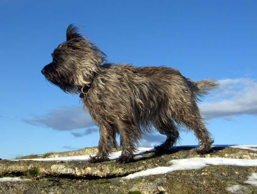
[{"label": "dog's front leg, second leg from the left", "polygon": [[117,130],[120,136],[120,146],[122,147],[119,157],[120,163],[133,161],[133,152],[136,150],[136,144],[141,138],[141,133],[136,125],[130,121],[117,121]]}]

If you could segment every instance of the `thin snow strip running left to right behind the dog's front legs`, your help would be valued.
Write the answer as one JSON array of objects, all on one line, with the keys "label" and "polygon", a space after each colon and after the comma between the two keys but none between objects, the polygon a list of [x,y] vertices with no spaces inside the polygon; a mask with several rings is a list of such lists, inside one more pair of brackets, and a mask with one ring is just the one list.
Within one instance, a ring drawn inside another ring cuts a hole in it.
[{"label": "thin snow strip running left to right behind the dog's front legs", "polygon": [[[135,156],[142,155],[146,153],[146,151],[154,151],[153,147],[139,147],[137,151],[134,152]],[[121,151],[112,152],[109,155],[109,159],[115,160],[120,156]],[[92,155],[94,156],[94,155]],[[12,161],[18,160],[35,160],[35,161],[79,161],[79,160],[88,160],[90,159],[89,155],[78,155],[78,156],[67,156],[67,157],[54,157],[54,158],[34,158],[34,159],[12,159]]]}]

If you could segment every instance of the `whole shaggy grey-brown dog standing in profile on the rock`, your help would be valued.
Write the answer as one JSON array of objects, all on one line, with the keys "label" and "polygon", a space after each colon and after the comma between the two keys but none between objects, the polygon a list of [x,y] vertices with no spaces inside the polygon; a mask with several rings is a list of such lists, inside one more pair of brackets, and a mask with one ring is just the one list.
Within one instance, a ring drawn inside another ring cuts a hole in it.
[{"label": "whole shaggy grey-brown dog standing in profile on the rock", "polygon": [[213,139],[197,106],[197,97],[217,87],[211,79],[191,81],[167,67],[109,64],[105,54],[70,25],[67,40],[53,52],[53,62],[42,70],[46,79],[64,92],[80,93],[84,109],[99,127],[98,153],[91,161],[108,159],[112,146],[122,147],[119,161],[133,160],[142,137],[155,127],[167,139],[157,152],[166,152],[179,138],[178,126],[193,130],[198,153],[211,150]]}]

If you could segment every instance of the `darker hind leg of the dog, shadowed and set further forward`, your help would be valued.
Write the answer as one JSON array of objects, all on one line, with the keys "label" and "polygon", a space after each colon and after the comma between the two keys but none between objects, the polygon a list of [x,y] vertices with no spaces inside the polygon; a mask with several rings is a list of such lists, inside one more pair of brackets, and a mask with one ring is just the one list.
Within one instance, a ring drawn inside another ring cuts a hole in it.
[{"label": "darker hind leg of the dog, shadowed and set further forward", "polygon": [[177,126],[174,124],[172,120],[164,122],[161,119],[160,121],[155,122],[154,125],[162,135],[167,136],[165,142],[163,142],[159,146],[155,146],[156,153],[165,153],[170,151],[171,147],[176,144],[179,138],[179,131]]}]

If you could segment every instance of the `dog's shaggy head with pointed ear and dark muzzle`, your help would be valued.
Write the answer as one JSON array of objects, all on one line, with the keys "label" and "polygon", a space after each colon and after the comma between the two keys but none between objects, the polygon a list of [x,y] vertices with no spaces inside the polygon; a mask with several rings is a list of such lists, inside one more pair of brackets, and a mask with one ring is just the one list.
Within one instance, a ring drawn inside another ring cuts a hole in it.
[{"label": "dog's shaggy head with pointed ear and dark muzzle", "polygon": [[66,31],[66,42],[52,53],[53,61],[42,69],[42,74],[64,92],[77,93],[77,88],[92,81],[105,54],[78,33],[72,24]]}]

